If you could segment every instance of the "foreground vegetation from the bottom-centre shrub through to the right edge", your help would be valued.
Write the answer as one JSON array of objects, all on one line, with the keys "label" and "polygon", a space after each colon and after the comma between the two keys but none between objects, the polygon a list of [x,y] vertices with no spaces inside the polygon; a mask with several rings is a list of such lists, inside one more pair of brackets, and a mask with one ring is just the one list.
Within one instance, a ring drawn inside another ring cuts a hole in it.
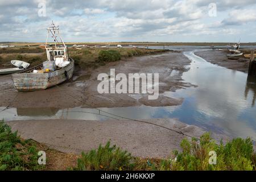
[{"label": "foreground vegetation from the bottom-centre shrub through to the right edge", "polygon": [[[141,159],[131,157],[126,151],[110,142],[105,147],[82,154],[77,160],[76,170],[161,170],[161,171],[251,171],[255,170],[256,155],[250,138],[236,138],[226,143],[217,144],[209,133],[200,140],[191,142],[183,139],[180,143],[182,152],[173,151],[168,159]],[[217,155],[216,165],[209,164],[210,151]]]}]

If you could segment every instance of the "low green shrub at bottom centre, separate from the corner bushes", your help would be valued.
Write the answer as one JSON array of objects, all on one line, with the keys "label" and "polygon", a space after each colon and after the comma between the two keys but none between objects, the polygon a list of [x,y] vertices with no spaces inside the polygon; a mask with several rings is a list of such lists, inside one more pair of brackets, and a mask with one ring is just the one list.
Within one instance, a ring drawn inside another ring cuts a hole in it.
[{"label": "low green shrub at bottom centre, separate from the corner bushes", "polygon": [[130,153],[115,145],[110,147],[108,142],[104,147],[100,145],[97,150],[91,150],[86,154],[82,152],[75,170],[128,170],[133,168],[131,159],[133,158]]}]

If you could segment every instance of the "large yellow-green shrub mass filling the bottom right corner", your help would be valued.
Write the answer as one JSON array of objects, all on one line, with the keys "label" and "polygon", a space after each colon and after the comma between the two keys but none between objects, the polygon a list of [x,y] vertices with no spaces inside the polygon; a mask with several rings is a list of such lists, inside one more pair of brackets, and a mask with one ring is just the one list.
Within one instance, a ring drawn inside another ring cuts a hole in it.
[{"label": "large yellow-green shrub mass filling the bottom right corner", "polygon": [[[217,144],[209,133],[205,133],[200,141],[183,139],[182,152],[174,151],[172,158],[162,160],[160,170],[253,170],[255,154],[250,138],[236,138],[224,145]],[[217,164],[209,164],[209,152],[217,154]]]}]

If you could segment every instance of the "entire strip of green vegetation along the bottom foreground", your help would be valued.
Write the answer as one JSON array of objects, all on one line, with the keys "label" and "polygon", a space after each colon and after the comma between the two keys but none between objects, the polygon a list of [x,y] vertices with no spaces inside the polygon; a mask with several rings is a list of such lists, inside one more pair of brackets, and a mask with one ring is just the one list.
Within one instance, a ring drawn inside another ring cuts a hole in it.
[{"label": "entire strip of green vegetation along the bottom foreground", "polygon": [[[43,148],[42,148],[43,147]],[[181,152],[173,151],[170,158],[143,159],[135,158],[127,151],[110,142],[100,145],[81,155],[63,154],[46,149],[46,146],[23,140],[17,132],[4,122],[0,122],[0,170],[42,170],[42,169],[73,169],[73,170],[164,170],[164,171],[232,171],[256,170],[256,155],[250,138],[236,138],[224,144],[217,144],[209,133],[202,135],[200,140],[183,139],[180,143]],[[47,151],[47,166],[38,165],[38,148]],[[209,164],[210,151],[217,155],[216,165]],[[63,160],[65,159],[65,160]],[[77,160],[77,162],[75,162]],[[63,163],[61,165],[61,163]]]}]

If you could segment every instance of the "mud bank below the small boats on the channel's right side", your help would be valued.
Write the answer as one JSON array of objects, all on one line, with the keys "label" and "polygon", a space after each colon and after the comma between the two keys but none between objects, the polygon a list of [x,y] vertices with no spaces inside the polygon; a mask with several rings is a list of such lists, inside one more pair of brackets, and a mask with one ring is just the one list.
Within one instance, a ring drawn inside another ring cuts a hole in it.
[{"label": "mud bank below the small boats on the channel's right side", "polygon": [[202,57],[210,63],[220,65],[221,67],[234,69],[247,73],[249,68],[249,59],[245,59],[243,56],[239,59],[228,59],[226,55],[229,51],[199,51],[195,52],[195,55]]}]

